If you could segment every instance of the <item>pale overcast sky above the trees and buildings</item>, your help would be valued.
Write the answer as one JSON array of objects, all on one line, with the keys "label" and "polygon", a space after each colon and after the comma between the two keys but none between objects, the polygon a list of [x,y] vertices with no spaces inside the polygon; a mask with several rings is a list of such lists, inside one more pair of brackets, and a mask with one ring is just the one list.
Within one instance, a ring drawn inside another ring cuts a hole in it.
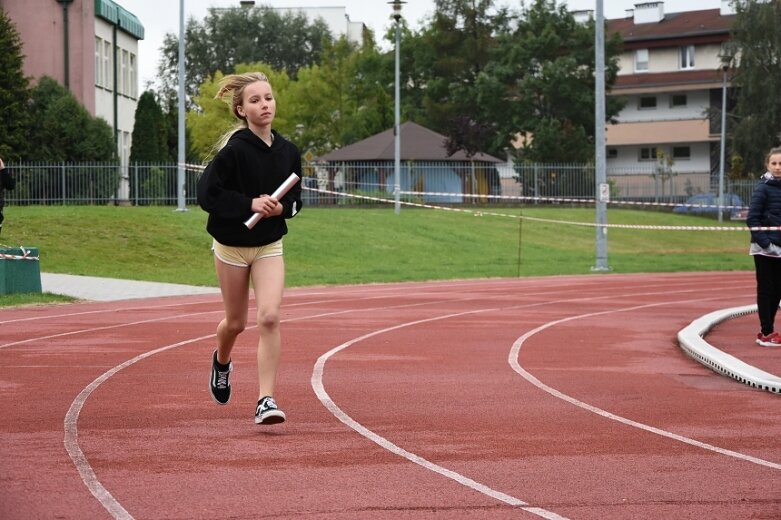
[{"label": "pale overcast sky above the trees and buildings", "polygon": [[[626,9],[647,0],[603,0],[606,18],[621,18]],[[154,79],[159,61],[159,50],[166,33],[179,33],[179,4],[176,0],[116,0],[141,20],[146,37],[139,42],[139,75],[141,88]],[[344,6],[353,22],[363,22],[374,30],[378,41],[390,27],[392,9],[387,0],[258,0],[258,5],[272,7],[296,6]],[[527,2],[529,3],[529,2]],[[571,10],[595,9],[596,0],[566,0]],[[496,5],[512,8],[520,6],[520,0],[496,0]],[[239,0],[184,0],[185,18],[195,17],[198,21],[208,14],[210,7],[238,6]],[[665,12],[717,9],[721,0],[666,0]],[[402,15],[413,28],[428,19],[434,11],[434,0],[407,0]]]}]

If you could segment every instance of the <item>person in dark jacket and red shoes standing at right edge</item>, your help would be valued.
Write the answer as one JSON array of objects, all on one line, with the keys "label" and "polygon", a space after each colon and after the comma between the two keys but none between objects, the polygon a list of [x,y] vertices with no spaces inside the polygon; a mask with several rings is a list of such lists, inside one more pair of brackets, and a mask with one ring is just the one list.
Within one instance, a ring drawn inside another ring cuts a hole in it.
[{"label": "person in dark jacket and red shoes standing at right edge", "polygon": [[[781,347],[775,331],[776,312],[781,303],[781,147],[773,148],[765,159],[767,172],[751,195],[746,224],[751,229],[749,254],[754,257],[757,280],[757,314],[760,331],[756,343]],[[761,230],[776,227],[778,230]]]}]

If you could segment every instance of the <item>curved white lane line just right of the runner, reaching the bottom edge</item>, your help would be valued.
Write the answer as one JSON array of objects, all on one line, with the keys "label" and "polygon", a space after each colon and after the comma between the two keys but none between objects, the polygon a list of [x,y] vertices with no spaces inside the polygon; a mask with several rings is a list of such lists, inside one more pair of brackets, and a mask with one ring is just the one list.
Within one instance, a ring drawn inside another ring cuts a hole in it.
[{"label": "curved white lane line just right of the runner, reaching the bottom edge", "polygon": [[560,516],[552,511],[548,511],[546,509],[540,508],[540,507],[534,507],[529,505],[527,502],[524,502],[523,500],[513,497],[511,495],[508,495],[506,493],[503,493],[501,491],[497,491],[493,488],[490,488],[486,486],[485,484],[482,484],[480,482],[477,482],[475,480],[472,480],[469,477],[466,477],[464,475],[461,475],[460,473],[457,473],[453,470],[447,469],[443,466],[440,466],[439,464],[435,464],[427,459],[424,459],[423,457],[416,455],[412,452],[409,452],[405,450],[404,448],[392,443],[385,437],[382,437],[381,435],[378,435],[371,431],[370,429],[363,426],[361,423],[357,422],[355,419],[350,417],[347,413],[345,413],[339,406],[334,403],[334,401],[331,399],[331,397],[328,395],[328,392],[325,390],[325,386],[323,385],[323,372],[325,370],[325,363],[328,361],[329,358],[331,358],[334,354],[337,354],[338,352],[341,352],[342,350],[359,343],[363,340],[366,340],[368,338],[371,338],[373,336],[377,336],[380,334],[385,334],[386,332],[391,332],[394,330],[398,330],[404,327],[411,327],[413,325],[419,325],[421,323],[428,323],[432,321],[437,320],[445,320],[449,318],[457,318],[459,316],[465,316],[468,314],[477,314],[482,312],[493,312],[497,311],[499,309],[480,309],[480,310],[473,310],[473,311],[466,311],[466,312],[459,312],[455,314],[446,314],[443,316],[437,316],[433,318],[427,318],[423,320],[416,320],[411,321],[407,323],[402,323],[399,325],[394,325],[392,327],[388,327],[385,329],[376,330],[373,332],[370,332],[369,334],[365,334],[363,336],[354,338],[350,341],[347,341],[345,343],[342,343],[341,345],[334,347],[333,349],[329,350],[322,356],[320,356],[317,360],[317,363],[315,363],[314,370],[312,371],[312,388],[315,391],[315,394],[317,394],[317,398],[320,399],[320,402],[323,403],[323,405],[342,423],[347,425],[348,427],[352,428],[359,434],[363,435],[370,441],[378,444],[380,447],[388,450],[389,452],[398,455],[400,457],[403,457],[407,459],[408,461],[417,464],[429,471],[433,471],[434,473],[438,473],[439,475],[442,475],[443,477],[449,478],[463,486],[466,486],[470,489],[473,489],[477,491],[478,493],[482,493],[486,496],[489,496],[495,500],[499,500],[500,502],[504,502],[505,504],[511,505],[513,507],[519,507],[523,509],[524,511],[527,511],[529,513],[532,513],[534,515],[537,515],[542,518],[546,518],[548,520],[566,520],[566,517]]}]

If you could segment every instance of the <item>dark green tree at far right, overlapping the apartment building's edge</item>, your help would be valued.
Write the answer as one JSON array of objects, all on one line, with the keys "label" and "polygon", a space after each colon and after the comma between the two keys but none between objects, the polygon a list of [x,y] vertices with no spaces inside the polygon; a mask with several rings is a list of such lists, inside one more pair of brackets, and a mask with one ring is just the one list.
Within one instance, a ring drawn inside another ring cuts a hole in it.
[{"label": "dark green tree at far right, overlapping the apartment building's edge", "polygon": [[736,0],[734,5],[737,100],[731,140],[742,174],[756,177],[765,171],[767,151],[781,142],[781,3]]}]

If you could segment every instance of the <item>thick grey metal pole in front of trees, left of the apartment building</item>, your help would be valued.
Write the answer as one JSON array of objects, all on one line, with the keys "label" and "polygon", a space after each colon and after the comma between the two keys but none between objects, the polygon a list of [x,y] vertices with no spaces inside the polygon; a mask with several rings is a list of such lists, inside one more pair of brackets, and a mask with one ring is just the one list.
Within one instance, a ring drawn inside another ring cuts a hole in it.
[{"label": "thick grey metal pole in front of trees, left of the apartment building", "polygon": [[605,165],[605,15],[603,0],[597,0],[594,36],[594,147],[596,184],[596,265],[592,271],[609,271],[607,265],[607,202],[610,187]]}]

